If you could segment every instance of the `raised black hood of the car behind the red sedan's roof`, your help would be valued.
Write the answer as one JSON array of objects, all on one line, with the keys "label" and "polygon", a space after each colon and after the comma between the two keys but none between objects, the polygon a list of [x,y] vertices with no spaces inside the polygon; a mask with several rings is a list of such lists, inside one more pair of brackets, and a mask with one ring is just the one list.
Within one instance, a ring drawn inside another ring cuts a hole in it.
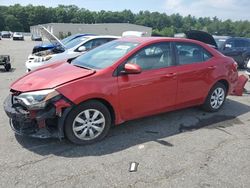
[{"label": "raised black hood of the car behind the red sedan's roof", "polygon": [[215,42],[213,36],[207,32],[190,30],[185,32],[185,35],[188,39],[198,40],[206,44],[212,45],[215,48],[218,48],[217,43]]}]

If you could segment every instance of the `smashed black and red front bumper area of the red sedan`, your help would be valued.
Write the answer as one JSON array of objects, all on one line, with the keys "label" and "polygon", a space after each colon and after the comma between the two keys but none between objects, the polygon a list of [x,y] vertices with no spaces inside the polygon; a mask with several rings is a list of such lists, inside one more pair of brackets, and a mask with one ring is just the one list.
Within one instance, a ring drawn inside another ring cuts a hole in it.
[{"label": "smashed black and red front bumper area of the red sedan", "polygon": [[64,99],[33,111],[13,103],[12,95],[4,101],[4,110],[10,118],[12,130],[18,135],[36,138],[63,138],[63,122],[71,108],[72,104]]}]

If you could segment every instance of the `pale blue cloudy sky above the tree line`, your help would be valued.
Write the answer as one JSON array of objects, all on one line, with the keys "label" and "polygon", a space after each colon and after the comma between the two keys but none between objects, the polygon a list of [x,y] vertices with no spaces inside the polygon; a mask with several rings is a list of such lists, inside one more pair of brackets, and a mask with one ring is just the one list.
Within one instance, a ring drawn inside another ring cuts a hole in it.
[{"label": "pale blue cloudy sky above the tree line", "polygon": [[0,0],[0,5],[44,5],[56,7],[58,4],[76,5],[91,11],[122,11],[130,9],[137,13],[140,10],[161,12],[168,15],[179,13],[182,16],[218,17],[226,20],[250,20],[249,0]]}]

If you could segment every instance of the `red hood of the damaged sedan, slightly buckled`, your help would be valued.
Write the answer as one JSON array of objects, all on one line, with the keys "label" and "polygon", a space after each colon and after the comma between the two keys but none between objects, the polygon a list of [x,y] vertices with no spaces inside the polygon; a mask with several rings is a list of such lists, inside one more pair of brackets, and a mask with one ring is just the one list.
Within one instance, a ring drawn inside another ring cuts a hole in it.
[{"label": "red hood of the damaged sedan, slightly buckled", "polygon": [[88,70],[67,62],[60,62],[43,66],[24,75],[12,83],[10,88],[20,92],[51,89],[94,73],[95,70]]}]

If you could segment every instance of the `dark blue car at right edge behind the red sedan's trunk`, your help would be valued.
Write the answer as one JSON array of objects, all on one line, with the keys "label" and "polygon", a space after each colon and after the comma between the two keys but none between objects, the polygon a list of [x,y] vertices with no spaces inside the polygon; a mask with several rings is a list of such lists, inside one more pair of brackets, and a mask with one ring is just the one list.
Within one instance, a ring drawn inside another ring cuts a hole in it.
[{"label": "dark blue car at right edge behind the red sedan's trunk", "polygon": [[245,68],[250,59],[250,39],[241,37],[227,38],[221,44],[219,51],[226,56],[232,57],[240,68]]}]

